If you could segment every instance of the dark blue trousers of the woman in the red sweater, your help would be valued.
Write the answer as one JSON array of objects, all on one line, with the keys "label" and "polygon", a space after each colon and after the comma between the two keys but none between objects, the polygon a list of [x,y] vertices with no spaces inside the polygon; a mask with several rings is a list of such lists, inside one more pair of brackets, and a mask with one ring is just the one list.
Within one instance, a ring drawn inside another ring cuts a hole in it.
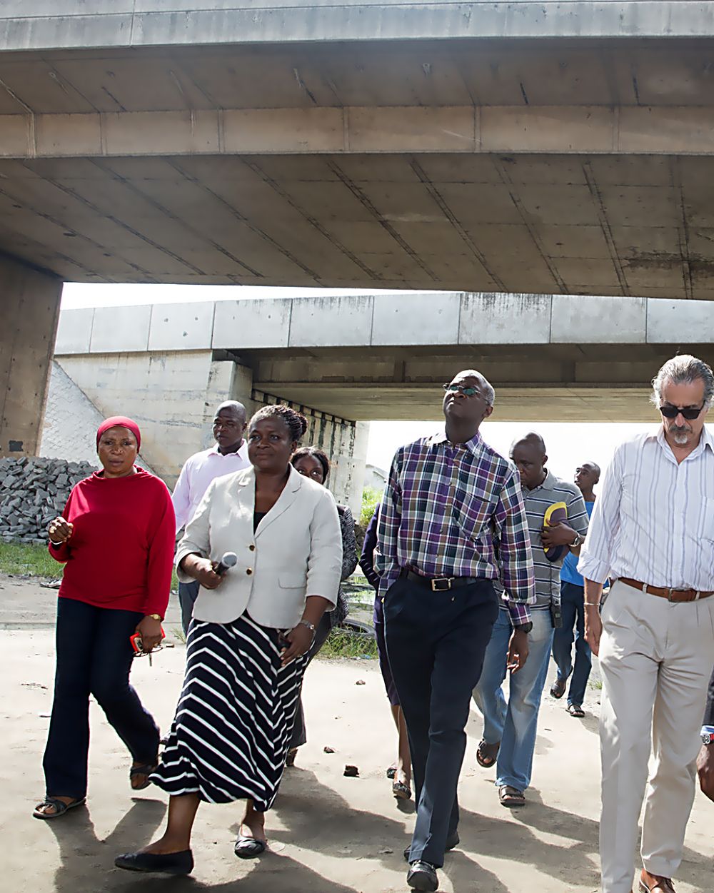
[{"label": "dark blue trousers of the woman in the red sweater", "polygon": [[142,617],[71,598],[57,600],[55,700],[43,761],[48,796],[87,794],[89,695],[131,756],[155,763],[159,730],[129,684],[134,654],[129,638]]}]

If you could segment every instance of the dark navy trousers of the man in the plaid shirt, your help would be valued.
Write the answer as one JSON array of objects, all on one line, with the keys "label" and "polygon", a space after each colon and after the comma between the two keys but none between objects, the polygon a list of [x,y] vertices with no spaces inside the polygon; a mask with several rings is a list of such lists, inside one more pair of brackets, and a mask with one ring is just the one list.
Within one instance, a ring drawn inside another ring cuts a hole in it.
[{"label": "dark navy trousers of the man in the plaid shirt", "polygon": [[416,789],[410,862],[444,863],[458,827],[458,776],[471,693],[499,614],[490,580],[433,592],[401,578],[384,598],[391,672],[409,733]]}]

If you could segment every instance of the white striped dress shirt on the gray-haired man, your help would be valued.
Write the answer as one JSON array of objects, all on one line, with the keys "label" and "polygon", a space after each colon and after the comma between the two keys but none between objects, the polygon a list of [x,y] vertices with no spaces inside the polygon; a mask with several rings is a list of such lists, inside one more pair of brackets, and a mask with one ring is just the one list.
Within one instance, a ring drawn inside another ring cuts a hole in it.
[{"label": "white striped dress shirt on the gray-haired man", "polygon": [[677,464],[664,430],[617,447],[577,569],[588,580],[714,589],[714,438]]}]

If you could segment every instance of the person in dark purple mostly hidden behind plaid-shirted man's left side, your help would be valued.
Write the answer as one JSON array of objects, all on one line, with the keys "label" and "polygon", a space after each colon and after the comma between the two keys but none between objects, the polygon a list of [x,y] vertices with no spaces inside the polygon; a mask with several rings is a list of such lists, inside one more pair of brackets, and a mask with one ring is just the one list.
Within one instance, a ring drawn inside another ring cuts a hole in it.
[{"label": "person in dark purple mostly hidden behind plaid-shirted man's left side", "polygon": [[374,587],[374,635],[377,638],[377,651],[379,652],[379,667],[382,671],[384,688],[391,705],[391,716],[397,726],[399,734],[399,746],[397,749],[397,762],[387,770],[387,777],[391,778],[391,792],[398,800],[408,800],[412,796],[412,758],[409,753],[409,739],[407,736],[407,723],[399,706],[399,695],[394,680],[391,678],[390,661],[387,656],[387,646],[384,641],[384,613],[382,611],[382,599],[379,597],[379,574],[374,570],[374,549],[377,546],[377,522],[379,505],[374,509],[372,520],[365,532],[365,543],[362,547],[362,556],[359,566],[365,574],[368,582]]}]

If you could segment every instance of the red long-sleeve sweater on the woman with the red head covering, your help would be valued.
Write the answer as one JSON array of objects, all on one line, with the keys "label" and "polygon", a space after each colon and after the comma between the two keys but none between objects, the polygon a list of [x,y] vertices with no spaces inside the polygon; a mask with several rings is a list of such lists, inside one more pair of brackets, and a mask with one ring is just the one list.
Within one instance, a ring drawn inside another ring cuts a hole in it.
[{"label": "red long-sleeve sweater on the woman with the red head covering", "polygon": [[61,598],[164,617],[176,526],[163,480],[141,468],[126,478],[95,472],[72,488],[63,517],[71,538],[49,547],[65,564]]}]

